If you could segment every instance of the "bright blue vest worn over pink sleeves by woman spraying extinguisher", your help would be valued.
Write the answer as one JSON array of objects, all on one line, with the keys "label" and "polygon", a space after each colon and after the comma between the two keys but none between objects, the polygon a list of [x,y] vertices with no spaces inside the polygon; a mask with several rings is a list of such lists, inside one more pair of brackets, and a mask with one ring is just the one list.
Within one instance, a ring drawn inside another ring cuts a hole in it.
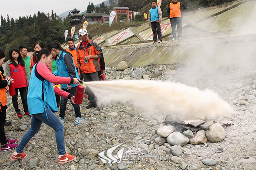
[{"label": "bright blue vest worn over pink sleeves by woman spraying extinguisher", "polygon": [[36,66],[37,64],[34,65],[30,75],[29,92],[27,94],[29,112],[31,115],[46,112],[45,105],[52,112],[57,112],[58,108],[52,83],[37,78],[35,75]]}]

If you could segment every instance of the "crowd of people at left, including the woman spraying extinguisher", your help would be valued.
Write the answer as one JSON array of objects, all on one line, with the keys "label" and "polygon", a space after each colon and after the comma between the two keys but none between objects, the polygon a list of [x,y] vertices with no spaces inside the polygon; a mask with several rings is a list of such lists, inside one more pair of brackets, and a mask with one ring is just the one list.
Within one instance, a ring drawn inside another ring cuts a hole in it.
[{"label": "crowd of people at left, including the woman spraying extinguisher", "polygon": [[[27,48],[20,46],[19,50],[11,48],[10,60],[5,65],[5,74],[1,70],[0,81],[0,136],[1,151],[15,149],[11,160],[26,158],[24,147],[29,140],[39,131],[42,122],[52,127],[56,133],[57,149],[59,151],[58,163],[73,161],[76,157],[67,154],[64,142],[65,110],[67,99],[75,109],[74,124],[82,121],[80,107],[74,101],[75,92],[79,79],[84,82],[98,81],[99,75],[105,72],[103,53],[97,43],[88,38],[86,29],[79,30],[82,42],[78,47],[73,39],[68,39],[68,48],[65,50],[59,43],[49,43],[44,48],[43,43],[34,44],[34,54],[27,56]],[[0,66],[4,63],[5,54],[0,51]],[[18,105],[18,91],[22,99],[25,115],[31,115],[30,129],[23,136],[19,145],[18,140],[6,138],[4,126],[6,122],[7,95],[10,84],[14,82],[15,95],[12,96],[17,116],[21,119],[22,114]],[[60,84],[60,85],[58,85]],[[60,89],[61,87],[61,89]],[[96,98],[90,88],[86,88],[86,95],[90,101],[87,108],[97,106]],[[61,96],[59,102],[58,96]],[[53,113],[60,106],[59,118]],[[101,106],[98,106],[101,109]]]}]

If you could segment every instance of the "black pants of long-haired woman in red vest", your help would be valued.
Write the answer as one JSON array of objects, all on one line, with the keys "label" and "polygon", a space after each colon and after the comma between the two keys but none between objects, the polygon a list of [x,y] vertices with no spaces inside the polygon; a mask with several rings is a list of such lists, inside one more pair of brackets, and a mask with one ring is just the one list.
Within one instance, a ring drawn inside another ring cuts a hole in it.
[{"label": "black pants of long-haired woman in red vest", "polygon": [[19,104],[18,104],[18,90],[20,93],[20,97],[22,100],[22,105],[24,108],[24,112],[29,112],[29,108],[27,107],[27,87],[15,88],[15,96],[12,96],[12,104],[16,112],[19,112]]}]

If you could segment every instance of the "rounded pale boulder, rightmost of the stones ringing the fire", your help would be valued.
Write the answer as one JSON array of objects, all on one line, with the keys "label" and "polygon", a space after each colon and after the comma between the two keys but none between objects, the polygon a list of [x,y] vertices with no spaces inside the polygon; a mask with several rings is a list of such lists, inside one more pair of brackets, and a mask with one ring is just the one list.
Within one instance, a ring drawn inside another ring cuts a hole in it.
[{"label": "rounded pale boulder, rightmost of the stones ringing the fire", "polygon": [[226,137],[225,129],[219,123],[212,124],[211,130],[207,130],[205,134],[212,143],[222,141]]}]

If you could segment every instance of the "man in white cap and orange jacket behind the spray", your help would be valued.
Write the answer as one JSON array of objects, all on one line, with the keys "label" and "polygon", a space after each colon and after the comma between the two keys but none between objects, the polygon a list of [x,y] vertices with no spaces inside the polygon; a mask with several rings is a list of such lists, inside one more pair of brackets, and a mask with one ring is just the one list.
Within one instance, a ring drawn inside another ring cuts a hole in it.
[{"label": "man in white cap and orange jacket behind the spray", "polygon": [[[77,47],[78,75],[83,77],[84,82],[99,81],[98,71],[100,70],[99,61],[102,51],[97,43],[88,39],[86,29],[79,30],[79,37],[82,42]],[[85,88],[90,104],[86,108],[96,106],[96,98],[90,88]]]}]

